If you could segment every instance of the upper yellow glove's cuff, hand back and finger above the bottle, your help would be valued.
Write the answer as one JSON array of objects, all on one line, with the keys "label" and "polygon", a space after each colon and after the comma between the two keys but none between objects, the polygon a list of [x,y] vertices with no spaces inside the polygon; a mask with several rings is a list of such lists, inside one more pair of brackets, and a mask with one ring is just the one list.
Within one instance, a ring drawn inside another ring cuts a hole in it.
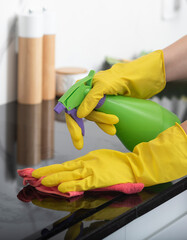
[{"label": "upper yellow glove's cuff, hand back and finger above the bottle", "polygon": [[128,63],[116,63],[93,78],[93,88],[78,108],[77,116],[86,117],[106,95],[125,95],[147,99],[165,87],[163,51],[157,50]]}]

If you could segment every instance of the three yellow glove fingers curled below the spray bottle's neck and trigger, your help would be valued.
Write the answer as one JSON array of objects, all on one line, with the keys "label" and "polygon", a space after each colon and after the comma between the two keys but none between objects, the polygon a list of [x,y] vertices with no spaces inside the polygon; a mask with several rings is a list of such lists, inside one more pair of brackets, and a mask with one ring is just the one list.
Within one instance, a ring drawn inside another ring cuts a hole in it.
[{"label": "three yellow glove fingers curled below the spray bottle's neck and trigger", "polygon": [[[77,122],[67,113],[65,113],[66,124],[71,135],[73,145],[78,150],[83,148],[84,140],[82,131]],[[117,116],[112,114],[106,114],[102,112],[92,111],[87,117],[87,120],[95,122],[99,128],[109,135],[116,134],[116,128],[114,124],[119,122]]]}]

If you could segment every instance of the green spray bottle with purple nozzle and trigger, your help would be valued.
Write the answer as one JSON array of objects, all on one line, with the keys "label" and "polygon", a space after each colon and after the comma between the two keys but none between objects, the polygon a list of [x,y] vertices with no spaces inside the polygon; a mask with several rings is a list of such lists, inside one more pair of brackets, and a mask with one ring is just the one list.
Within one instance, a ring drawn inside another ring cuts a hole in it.
[{"label": "green spray bottle with purple nozzle and trigger", "polygon": [[[92,88],[92,79],[95,72],[76,82],[58,100],[54,110],[56,113],[65,111],[78,123],[84,136],[83,119],[77,117],[77,108]],[[125,96],[104,96],[96,106],[97,111],[114,114],[119,118],[115,125],[116,135],[123,145],[130,151],[141,143],[148,142],[162,131],[180,124],[178,117],[161,105],[144,99]]]}]

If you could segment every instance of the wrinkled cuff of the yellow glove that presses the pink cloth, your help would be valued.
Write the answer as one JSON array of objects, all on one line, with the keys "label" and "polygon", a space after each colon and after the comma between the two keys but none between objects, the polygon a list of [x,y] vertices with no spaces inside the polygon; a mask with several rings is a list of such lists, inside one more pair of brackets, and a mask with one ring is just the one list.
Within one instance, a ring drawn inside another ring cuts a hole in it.
[{"label": "wrinkled cuff of the yellow glove that presses the pink cloth", "polygon": [[187,135],[176,123],[155,139],[138,144],[132,166],[136,182],[145,186],[170,182],[187,174]]}]

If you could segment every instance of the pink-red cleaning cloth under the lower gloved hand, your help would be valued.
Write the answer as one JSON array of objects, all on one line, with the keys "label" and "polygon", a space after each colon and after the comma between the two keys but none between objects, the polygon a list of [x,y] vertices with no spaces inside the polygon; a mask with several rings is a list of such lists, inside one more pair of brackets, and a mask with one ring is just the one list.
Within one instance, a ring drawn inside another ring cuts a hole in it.
[{"label": "pink-red cleaning cloth under the lower gloved hand", "polygon": [[[45,187],[41,184],[41,181],[44,177],[41,177],[39,179],[32,177],[32,172],[34,170],[35,169],[33,168],[25,168],[25,169],[17,170],[19,176],[23,178],[23,185],[29,184],[35,187],[35,189],[40,192],[54,194],[54,195],[58,195],[66,198],[76,197],[84,194],[83,191],[61,193],[58,190],[58,187]],[[125,194],[134,194],[134,193],[141,192],[143,188],[144,188],[143,183],[121,183],[121,184],[116,184],[109,187],[92,189],[89,191],[115,191],[115,192],[122,192]]]}]

